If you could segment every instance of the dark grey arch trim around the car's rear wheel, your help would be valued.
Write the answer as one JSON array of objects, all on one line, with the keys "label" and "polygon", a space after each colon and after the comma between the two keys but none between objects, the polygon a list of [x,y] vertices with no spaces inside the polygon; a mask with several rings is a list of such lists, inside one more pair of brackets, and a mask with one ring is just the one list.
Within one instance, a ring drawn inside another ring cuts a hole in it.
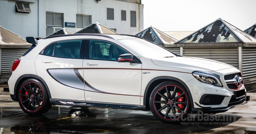
[{"label": "dark grey arch trim around the car's rear wheel", "polygon": [[18,80],[16,81],[15,85],[14,85],[14,95],[15,95],[15,101],[18,101],[18,90],[19,90],[19,87],[21,86],[21,83],[26,80],[26,79],[29,79],[29,78],[35,78],[35,79],[38,79],[40,80],[43,85],[45,86],[46,90],[47,90],[47,93],[49,95],[49,98],[51,98],[51,93],[50,93],[50,90],[46,84],[46,82],[41,78],[39,77],[38,75],[34,75],[34,74],[25,74],[25,75],[21,75]]}]

